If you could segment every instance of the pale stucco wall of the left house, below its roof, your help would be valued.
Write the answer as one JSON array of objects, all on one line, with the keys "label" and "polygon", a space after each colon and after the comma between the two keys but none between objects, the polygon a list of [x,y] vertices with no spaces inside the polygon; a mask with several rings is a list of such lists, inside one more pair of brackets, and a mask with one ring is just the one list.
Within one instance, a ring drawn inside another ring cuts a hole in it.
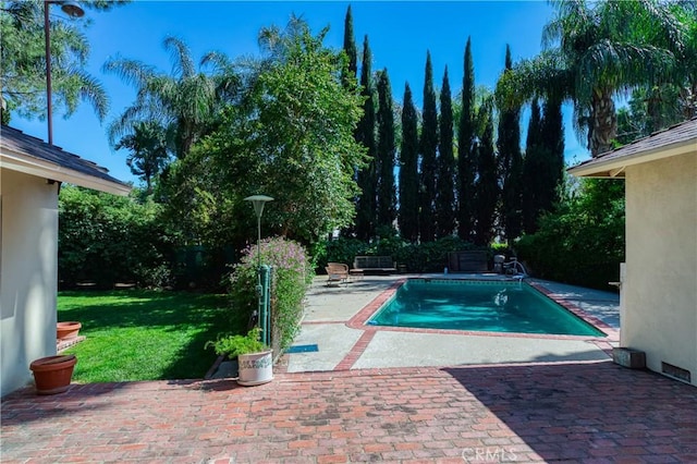
[{"label": "pale stucco wall of the left house, below its roof", "polygon": [[0,169],[0,394],[4,395],[32,381],[32,361],[56,354],[58,184]]}]

